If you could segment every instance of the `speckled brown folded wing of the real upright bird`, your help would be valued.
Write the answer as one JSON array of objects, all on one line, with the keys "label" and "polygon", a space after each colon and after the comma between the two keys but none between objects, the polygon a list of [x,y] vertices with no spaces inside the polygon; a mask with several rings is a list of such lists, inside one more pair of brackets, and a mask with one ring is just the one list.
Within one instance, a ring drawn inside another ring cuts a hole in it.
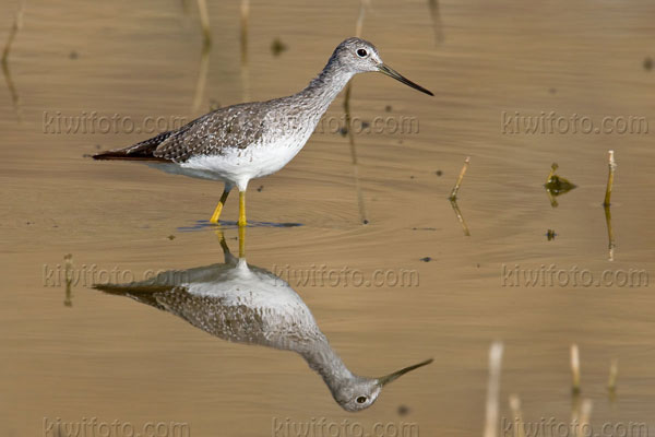
[{"label": "speckled brown folded wing of the real upright bird", "polygon": [[206,114],[164,140],[154,156],[186,162],[192,156],[222,155],[262,140],[266,106],[260,102],[229,106]]}]

